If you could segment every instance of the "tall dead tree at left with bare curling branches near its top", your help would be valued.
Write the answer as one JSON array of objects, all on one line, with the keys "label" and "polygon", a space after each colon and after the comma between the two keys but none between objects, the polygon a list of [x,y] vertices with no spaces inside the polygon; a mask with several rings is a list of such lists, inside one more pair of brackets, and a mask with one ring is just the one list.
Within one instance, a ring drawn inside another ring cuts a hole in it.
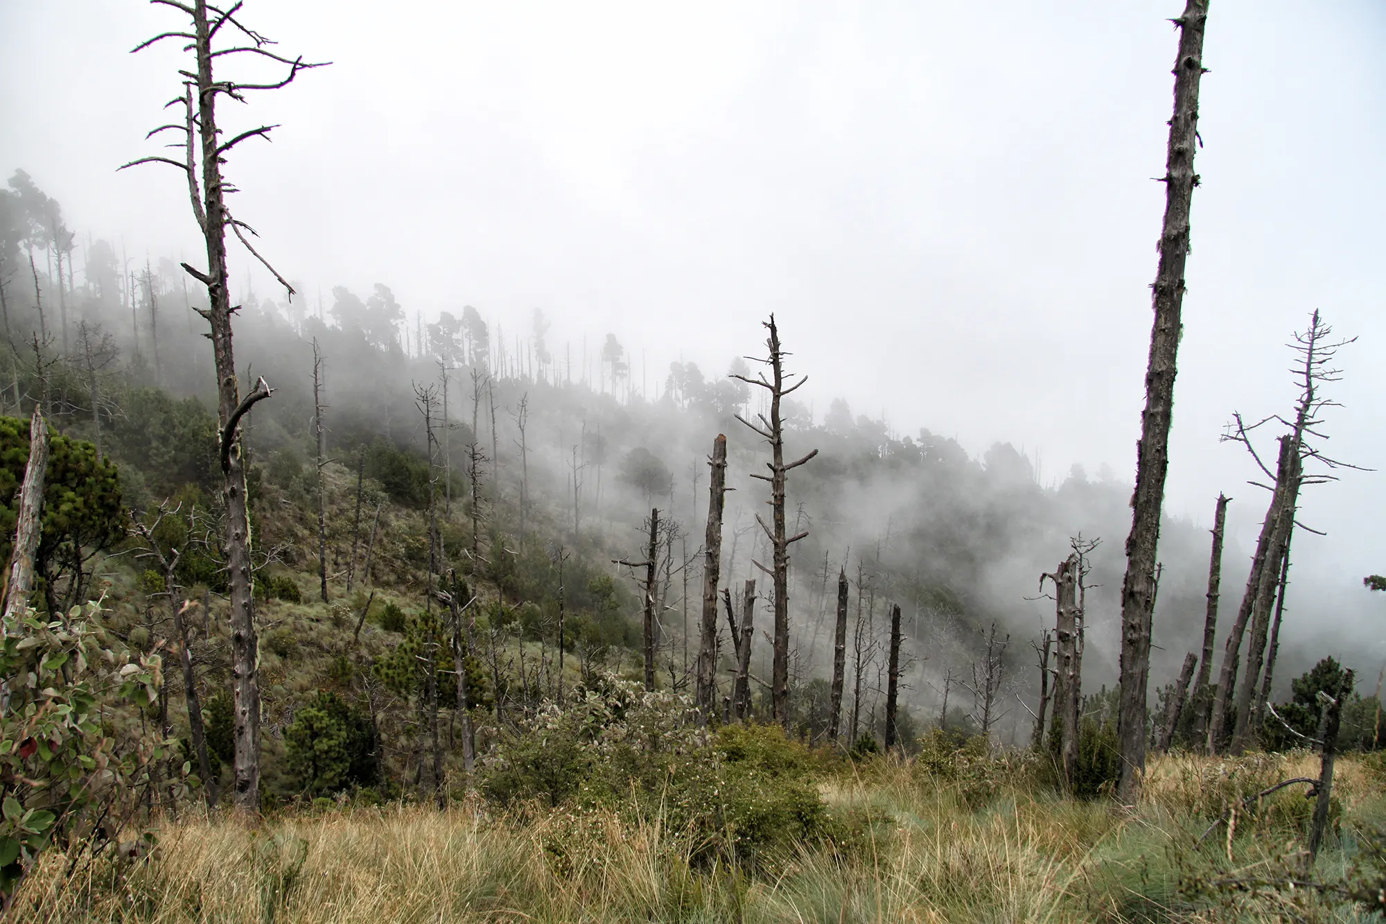
[{"label": "tall dead tree at left with bare curling branches near its top", "polygon": [[[272,125],[262,125],[231,137],[216,122],[218,97],[225,96],[238,103],[245,101],[249,90],[276,90],[294,80],[298,72],[319,67],[305,64],[302,57],[288,58],[269,50],[269,39],[247,28],[236,12],[240,6],[225,10],[209,7],[207,0],[161,0],[188,18],[183,31],[162,32],[133,49],[139,51],[164,39],[183,42],[184,51],[193,53],[195,65],[183,69],[183,96],[170,105],[182,105],[182,119],[161,125],[150,132],[183,132],[183,158],[143,157],[126,164],[169,164],[184,172],[193,215],[207,244],[207,269],[194,269],[183,264],[183,269],[207,286],[208,308],[198,309],[211,327],[212,352],[216,363],[218,423],[220,436],[220,466],[226,504],[226,565],[231,598],[231,690],[236,713],[234,728],[234,776],[236,805],[245,812],[259,812],[259,681],[256,677],[255,610],[251,597],[249,561],[249,519],[245,509],[245,470],[237,440],[237,426],[251,407],[270,394],[265,380],[244,398],[236,379],[236,354],[231,348],[231,277],[226,264],[226,233],[230,230],[244,244],[252,257],[259,259],[274,277],[294,294],[284,277],[276,272],[249,244],[244,230],[254,230],[245,222],[234,218],[226,208],[226,193],[231,187],[223,178],[222,165],[227,154],[240,143],[254,137],[267,137]],[[223,47],[215,47],[216,36],[223,29],[234,40]],[[227,60],[226,55],[249,54],[288,68],[287,75],[270,83],[248,83],[212,74],[213,62]],[[122,169],[125,169],[122,166]]]}]

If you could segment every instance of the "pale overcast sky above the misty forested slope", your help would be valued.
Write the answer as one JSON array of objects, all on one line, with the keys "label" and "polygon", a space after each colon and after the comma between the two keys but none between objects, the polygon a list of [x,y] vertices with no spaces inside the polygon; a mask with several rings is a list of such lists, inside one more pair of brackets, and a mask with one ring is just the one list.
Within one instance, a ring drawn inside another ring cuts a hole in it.
[{"label": "pale overcast sky above the misty forested slope", "polygon": [[[514,333],[542,307],[560,350],[615,330],[651,388],[679,355],[725,372],[775,311],[819,416],[840,395],[901,433],[1038,450],[1045,480],[1130,480],[1181,6],[251,0],[283,50],[334,64],[223,103],[229,128],[283,123],[233,160],[236,205],[310,300],[383,282]],[[197,253],[173,171],[114,172],[179,93],[175,47],[128,50],[177,25],[0,0],[0,171],[132,253]],[[1177,516],[1206,524],[1225,490],[1242,534],[1258,523],[1218,434],[1289,408],[1282,344],[1314,308],[1361,337],[1332,450],[1386,468],[1383,49],[1379,0],[1213,3]],[[1354,609],[1386,570],[1383,479],[1304,501],[1331,534],[1296,563]]]}]

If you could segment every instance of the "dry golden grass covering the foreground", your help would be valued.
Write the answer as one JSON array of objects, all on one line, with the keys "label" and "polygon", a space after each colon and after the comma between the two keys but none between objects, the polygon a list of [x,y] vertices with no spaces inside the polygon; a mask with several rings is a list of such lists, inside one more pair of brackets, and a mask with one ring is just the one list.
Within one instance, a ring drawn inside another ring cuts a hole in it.
[{"label": "dry golden grass covering the foreground", "polygon": [[[1379,803],[1361,764],[1339,766],[1346,816]],[[164,825],[155,855],[119,888],[101,867],[68,881],[51,856],[17,913],[150,924],[1229,920],[1181,903],[1171,852],[1221,812],[1217,799],[1314,770],[1299,755],[1166,758],[1152,764],[1146,803],[1128,814],[1024,788],[969,809],[954,788],[886,766],[825,784],[829,803],[854,820],[850,848],[802,850],[757,874],[693,869],[660,819],[600,812],[521,821],[467,802],[446,813],[284,814],[259,828],[184,819]]]}]

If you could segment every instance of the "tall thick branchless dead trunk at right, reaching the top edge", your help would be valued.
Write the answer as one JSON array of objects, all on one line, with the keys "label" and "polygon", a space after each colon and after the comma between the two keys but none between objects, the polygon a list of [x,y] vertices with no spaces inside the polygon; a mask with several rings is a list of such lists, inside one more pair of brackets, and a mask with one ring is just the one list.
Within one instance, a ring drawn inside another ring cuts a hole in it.
[{"label": "tall thick branchless dead trunk at right, reaching the top edge", "polygon": [[1121,705],[1117,739],[1121,778],[1117,798],[1134,805],[1145,776],[1146,685],[1150,674],[1150,617],[1155,610],[1156,551],[1160,542],[1160,509],[1170,465],[1170,420],[1174,411],[1174,375],[1184,305],[1184,269],[1189,255],[1189,212],[1193,187],[1193,148],[1198,143],[1199,82],[1203,76],[1203,31],[1207,0],[1186,0],[1179,28],[1179,53],[1174,64],[1174,118],[1164,171],[1164,226],[1160,232],[1160,266],[1153,286],[1155,323],[1145,372],[1145,411],[1137,447],[1135,494],[1131,498],[1131,534],[1127,538],[1127,570],[1121,581]]}]

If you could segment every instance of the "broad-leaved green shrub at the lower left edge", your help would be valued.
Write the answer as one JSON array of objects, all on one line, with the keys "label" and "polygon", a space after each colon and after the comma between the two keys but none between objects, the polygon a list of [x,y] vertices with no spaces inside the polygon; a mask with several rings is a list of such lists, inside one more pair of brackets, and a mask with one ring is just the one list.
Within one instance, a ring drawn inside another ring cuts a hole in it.
[{"label": "broad-leaved green shrub at the lower left edge", "polygon": [[173,744],[121,749],[103,730],[112,703],[155,703],[162,676],[158,655],[108,647],[98,612],[91,602],[73,609],[67,624],[35,610],[4,619],[0,893],[7,896],[49,845],[100,837],[105,810],[147,784],[147,762],[162,760]]}]

